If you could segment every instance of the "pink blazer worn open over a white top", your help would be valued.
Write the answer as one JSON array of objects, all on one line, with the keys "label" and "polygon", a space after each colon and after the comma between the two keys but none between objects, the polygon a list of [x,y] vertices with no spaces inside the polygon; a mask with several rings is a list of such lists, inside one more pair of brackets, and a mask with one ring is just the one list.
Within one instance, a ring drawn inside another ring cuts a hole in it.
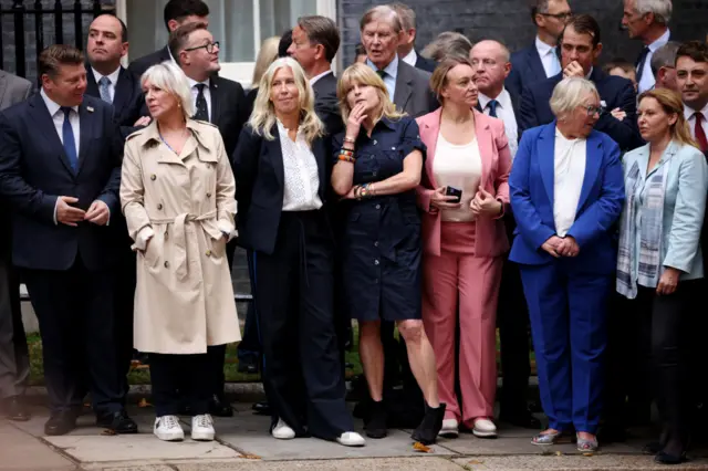
[{"label": "pink blazer worn open over a white top", "polygon": [[[416,119],[420,128],[420,139],[428,148],[420,186],[417,188],[418,206],[423,209],[423,250],[430,255],[440,254],[440,213],[430,208],[430,196],[438,188],[433,174],[435,149],[440,132],[442,108],[420,116]],[[482,178],[480,185],[485,190],[500,200],[504,211],[509,205],[509,171],[511,170],[511,153],[501,119],[489,117],[475,111],[475,132],[482,158]],[[503,214],[503,212],[502,212]],[[509,250],[509,240],[501,217],[481,217],[477,224],[475,255],[499,257]]]}]

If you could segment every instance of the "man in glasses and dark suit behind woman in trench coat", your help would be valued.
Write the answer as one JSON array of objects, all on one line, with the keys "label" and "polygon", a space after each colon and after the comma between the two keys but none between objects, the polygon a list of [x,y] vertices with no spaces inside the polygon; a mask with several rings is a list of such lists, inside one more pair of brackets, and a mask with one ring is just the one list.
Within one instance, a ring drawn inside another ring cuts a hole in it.
[{"label": "man in glasses and dark suit behind woman in trench coat", "polygon": [[[219,128],[227,156],[236,149],[247,116],[246,95],[238,82],[217,75],[219,64],[219,43],[207,30],[206,23],[187,23],[169,35],[169,51],[181,67],[191,88],[195,104],[195,119],[205,121]],[[233,264],[236,241],[227,247],[229,266]],[[209,412],[214,416],[230,417],[233,409],[223,394],[223,365],[226,345],[207,348],[212,366],[212,394]]]}]

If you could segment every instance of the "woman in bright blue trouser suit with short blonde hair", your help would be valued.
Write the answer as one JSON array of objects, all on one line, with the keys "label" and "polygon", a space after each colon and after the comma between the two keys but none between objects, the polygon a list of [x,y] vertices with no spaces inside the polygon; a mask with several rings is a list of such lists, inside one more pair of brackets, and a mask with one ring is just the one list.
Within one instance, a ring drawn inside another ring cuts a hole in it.
[{"label": "woman in bright blue trouser suit with short blonde hair", "polygon": [[577,449],[594,451],[622,164],[617,144],[593,130],[602,108],[592,82],[561,81],[551,109],[556,121],[528,129],[514,158],[509,187],[519,237],[509,260],[520,265],[549,418],[533,443],[552,444],[574,428]]}]

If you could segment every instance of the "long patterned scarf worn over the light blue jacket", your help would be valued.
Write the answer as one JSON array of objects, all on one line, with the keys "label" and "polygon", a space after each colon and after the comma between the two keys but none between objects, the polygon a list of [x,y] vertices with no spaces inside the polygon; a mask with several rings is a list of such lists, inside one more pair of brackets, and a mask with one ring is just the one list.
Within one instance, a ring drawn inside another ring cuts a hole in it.
[{"label": "long patterned scarf worn over the light blue jacket", "polygon": [[[673,143],[665,151],[667,157],[675,154]],[[637,279],[633,280],[635,265],[636,211],[644,186],[639,171],[639,163],[634,161],[625,181],[626,198],[620,227],[620,251],[617,253],[617,293],[633,300],[637,295],[637,284],[654,287],[658,283],[662,263],[662,234],[664,218],[664,192],[666,191],[666,169],[668,165],[664,156],[658,168],[646,182],[646,195],[641,208],[639,250]]]}]

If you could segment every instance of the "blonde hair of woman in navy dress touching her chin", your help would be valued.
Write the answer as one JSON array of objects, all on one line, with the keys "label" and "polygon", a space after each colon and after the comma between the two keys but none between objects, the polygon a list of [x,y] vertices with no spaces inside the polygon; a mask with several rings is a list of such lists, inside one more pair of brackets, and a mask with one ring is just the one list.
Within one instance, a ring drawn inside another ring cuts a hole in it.
[{"label": "blonde hair of woman in navy dress touching her chin", "polygon": [[376,111],[373,122],[378,123],[384,116],[388,119],[398,119],[405,116],[405,113],[399,113],[396,109],[396,105],[388,97],[388,90],[384,81],[374,72],[372,67],[366,64],[356,63],[352,64],[342,74],[340,82],[336,85],[336,97],[340,100],[340,111],[342,112],[342,119],[346,124],[350,118],[352,108],[346,101],[346,95],[350,93],[354,84],[368,85],[376,88],[376,94],[381,102],[381,108]]}]

